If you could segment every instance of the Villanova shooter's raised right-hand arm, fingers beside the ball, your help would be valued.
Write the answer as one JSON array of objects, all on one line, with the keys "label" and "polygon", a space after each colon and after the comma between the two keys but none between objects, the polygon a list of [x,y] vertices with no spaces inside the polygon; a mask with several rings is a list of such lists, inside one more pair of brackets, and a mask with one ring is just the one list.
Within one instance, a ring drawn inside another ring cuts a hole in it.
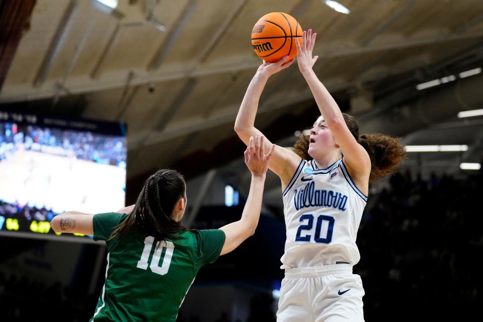
[{"label": "Villanova shooter's raised right-hand arm, fingers beside the ball", "polygon": [[[295,42],[297,46],[297,63],[308,87],[312,91],[313,98],[317,103],[320,113],[324,117],[326,125],[332,131],[337,144],[339,144],[344,163],[348,166],[351,177],[358,182],[365,183],[371,171],[371,162],[367,151],[357,143],[344,121],[342,112],[334,98],[326,87],[319,81],[312,69],[318,56],[312,57],[312,49],[317,34],[312,35],[312,30],[303,32],[302,46]],[[354,178],[356,177],[356,178]]]}]

